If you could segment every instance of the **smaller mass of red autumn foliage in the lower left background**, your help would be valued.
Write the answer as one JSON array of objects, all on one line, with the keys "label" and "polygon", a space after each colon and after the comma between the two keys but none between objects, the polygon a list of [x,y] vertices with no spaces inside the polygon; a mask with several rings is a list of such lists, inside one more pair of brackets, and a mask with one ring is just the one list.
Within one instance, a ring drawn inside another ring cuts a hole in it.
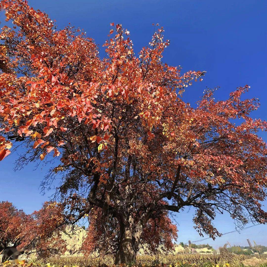
[{"label": "smaller mass of red autumn foliage in the lower left background", "polygon": [[12,203],[0,202],[0,252],[15,246],[39,256],[64,253],[66,244],[58,227],[63,218],[58,203],[46,202],[41,210],[26,215]]}]

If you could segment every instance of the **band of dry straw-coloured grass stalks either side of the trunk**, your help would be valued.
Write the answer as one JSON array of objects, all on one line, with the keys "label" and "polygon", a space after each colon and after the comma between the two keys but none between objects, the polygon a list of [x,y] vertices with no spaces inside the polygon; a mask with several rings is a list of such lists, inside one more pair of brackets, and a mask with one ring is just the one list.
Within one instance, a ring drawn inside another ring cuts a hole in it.
[{"label": "band of dry straw-coloured grass stalks either side of the trunk", "polygon": [[[242,261],[252,258],[248,255],[235,255],[232,253],[221,254],[175,254],[175,255],[139,255],[136,257],[136,262],[129,264],[129,266],[172,266],[172,267],[239,267],[244,266]],[[267,267],[267,255],[262,255],[261,264],[257,264],[259,267]],[[113,266],[114,258],[112,256],[87,258],[83,256],[64,256],[64,257],[52,257],[43,260],[33,260],[33,265],[44,266],[47,263],[55,265],[55,267],[88,267],[88,266]],[[229,264],[229,265],[228,265]]]}]

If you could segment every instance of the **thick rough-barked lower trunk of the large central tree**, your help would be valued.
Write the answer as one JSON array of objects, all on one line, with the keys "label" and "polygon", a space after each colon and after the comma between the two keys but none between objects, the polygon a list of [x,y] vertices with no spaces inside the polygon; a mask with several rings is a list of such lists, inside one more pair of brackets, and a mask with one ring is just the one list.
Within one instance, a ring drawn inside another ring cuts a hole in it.
[{"label": "thick rough-barked lower trunk of the large central tree", "polygon": [[116,252],[115,265],[133,263],[136,260],[139,241],[133,236],[133,227],[120,227],[120,241]]}]

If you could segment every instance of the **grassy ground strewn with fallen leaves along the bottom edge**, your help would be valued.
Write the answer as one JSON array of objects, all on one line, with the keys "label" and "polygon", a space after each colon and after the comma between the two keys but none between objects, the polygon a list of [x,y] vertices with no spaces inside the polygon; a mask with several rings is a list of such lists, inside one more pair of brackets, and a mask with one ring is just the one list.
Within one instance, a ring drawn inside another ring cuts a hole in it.
[{"label": "grassy ground strewn with fallen leaves along the bottom edge", "polygon": [[[1,267],[89,267],[89,266],[115,266],[114,257],[84,257],[84,256],[56,256],[44,259],[32,258],[22,260],[14,264],[7,261],[0,264]],[[267,267],[267,254],[258,255],[236,255],[228,250],[221,251],[220,254],[163,254],[138,255],[136,262],[128,264],[128,267]],[[127,267],[120,265],[120,267]]]}]

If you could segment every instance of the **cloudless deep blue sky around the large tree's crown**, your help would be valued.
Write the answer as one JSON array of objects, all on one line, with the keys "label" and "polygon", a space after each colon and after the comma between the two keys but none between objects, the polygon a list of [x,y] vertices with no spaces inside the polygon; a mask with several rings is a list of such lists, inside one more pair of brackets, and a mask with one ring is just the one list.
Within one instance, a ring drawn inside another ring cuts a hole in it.
[{"label": "cloudless deep blue sky around the large tree's crown", "polygon": [[[60,29],[69,22],[84,28],[87,36],[100,44],[101,57],[104,56],[101,45],[109,33],[110,22],[122,23],[130,31],[136,53],[150,41],[151,24],[159,23],[164,26],[165,38],[171,40],[164,52],[163,62],[181,65],[184,71],[207,71],[201,83],[187,88],[184,101],[194,106],[206,86],[220,86],[216,97],[222,100],[236,87],[249,84],[251,89],[246,96],[258,97],[261,102],[253,117],[267,119],[265,0],[29,0],[29,5],[56,19]],[[267,140],[265,133],[260,133],[260,136]],[[46,167],[33,171],[33,164],[13,172],[14,160],[15,155],[11,155],[0,164],[0,201],[11,201],[31,213],[39,209],[50,194],[42,196],[38,191]],[[176,220],[179,223],[178,242],[201,239],[193,229],[191,211],[179,213]],[[234,224],[226,214],[218,216],[215,224],[222,233],[234,230]],[[246,238],[267,245],[267,226],[255,226],[241,234],[228,234],[215,241],[209,239],[204,242],[217,248],[227,241],[231,245],[246,245]]]}]

